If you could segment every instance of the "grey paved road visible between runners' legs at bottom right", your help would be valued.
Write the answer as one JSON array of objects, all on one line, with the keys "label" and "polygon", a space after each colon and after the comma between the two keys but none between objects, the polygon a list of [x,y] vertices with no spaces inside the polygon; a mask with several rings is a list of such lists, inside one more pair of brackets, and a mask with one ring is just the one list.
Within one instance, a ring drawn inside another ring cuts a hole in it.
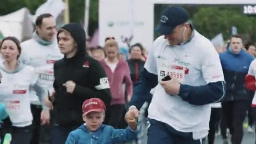
[{"label": "grey paved road visible between runners' legs at bottom right", "polygon": [[[248,133],[246,130],[244,131],[244,137],[242,144],[255,144],[255,133]],[[216,136],[216,140],[214,144],[223,144],[221,136]],[[229,143],[231,144],[231,143]]]}]

